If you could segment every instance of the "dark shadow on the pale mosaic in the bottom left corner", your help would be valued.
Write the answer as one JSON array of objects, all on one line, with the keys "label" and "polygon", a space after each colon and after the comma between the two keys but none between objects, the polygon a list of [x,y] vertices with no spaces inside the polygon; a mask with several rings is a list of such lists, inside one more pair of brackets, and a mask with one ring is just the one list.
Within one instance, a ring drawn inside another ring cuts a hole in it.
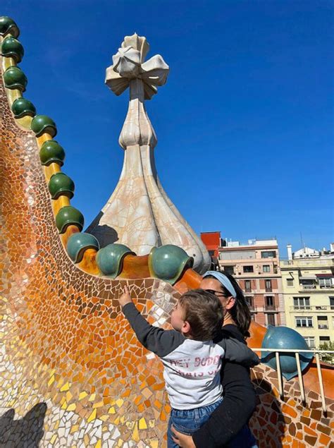
[{"label": "dark shadow on the pale mosaic in the bottom left corner", "polygon": [[39,447],[44,435],[44,417],[47,405],[36,404],[23,418],[14,420],[15,411],[9,409],[0,417],[0,446],[5,448]]}]

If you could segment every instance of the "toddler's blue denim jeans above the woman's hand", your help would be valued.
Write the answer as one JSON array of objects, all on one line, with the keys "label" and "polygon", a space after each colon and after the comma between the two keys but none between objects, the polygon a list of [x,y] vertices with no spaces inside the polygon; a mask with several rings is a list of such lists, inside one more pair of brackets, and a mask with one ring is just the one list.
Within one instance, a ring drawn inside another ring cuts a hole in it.
[{"label": "toddler's blue denim jeans above the woman's hand", "polygon": [[209,404],[209,406],[203,406],[202,408],[194,409],[172,409],[171,418],[168,422],[167,431],[167,447],[168,448],[178,448],[172,439],[171,425],[175,430],[182,432],[183,434],[192,435],[194,432],[199,430],[201,426],[209,420],[211,413],[221,404],[223,400],[218,400],[214,404]]}]

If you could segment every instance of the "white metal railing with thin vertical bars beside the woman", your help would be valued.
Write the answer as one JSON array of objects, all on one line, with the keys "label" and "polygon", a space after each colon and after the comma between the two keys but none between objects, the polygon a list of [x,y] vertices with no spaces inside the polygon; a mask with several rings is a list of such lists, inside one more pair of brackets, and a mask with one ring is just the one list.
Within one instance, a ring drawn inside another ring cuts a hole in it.
[{"label": "white metal railing with thin vertical bars beside the woman", "polygon": [[[323,412],[324,413],[327,412],[325,392],[323,389],[323,377],[321,374],[320,354],[321,355],[333,354],[334,350],[253,349],[253,348],[252,348],[252,350],[261,352],[261,353],[262,352],[275,353],[276,366],[277,366],[278,392],[280,394],[281,399],[284,399],[284,389],[283,389],[282,370],[280,368],[280,353],[291,353],[292,355],[295,356],[296,363],[297,363],[297,373],[298,373],[300,396],[302,398],[302,402],[304,405],[307,403],[306,403],[306,399],[305,399],[305,389],[304,389],[304,382],[303,382],[303,376],[302,376],[302,368],[300,366],[300,353],[314,353],[314,357],[316,358],[316,370],[318,373],[319,390],[320,390],[320,395],[321,395],[321,406],[322,406]],[[268,356],[270,356],[270,354],[268,354],[264,359],[266,359]]]}]

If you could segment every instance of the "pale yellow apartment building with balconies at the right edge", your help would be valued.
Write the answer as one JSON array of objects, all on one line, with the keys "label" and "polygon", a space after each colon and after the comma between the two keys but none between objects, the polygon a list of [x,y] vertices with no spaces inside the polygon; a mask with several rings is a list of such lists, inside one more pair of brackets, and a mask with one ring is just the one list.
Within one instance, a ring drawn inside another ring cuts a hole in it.
[{"label": "pale yellow apartment building with balconies at the right edge", "polygon": [[311,348],[334,341],[334,245],[303,248],[280,261],[287,327],[302,334]]}]

